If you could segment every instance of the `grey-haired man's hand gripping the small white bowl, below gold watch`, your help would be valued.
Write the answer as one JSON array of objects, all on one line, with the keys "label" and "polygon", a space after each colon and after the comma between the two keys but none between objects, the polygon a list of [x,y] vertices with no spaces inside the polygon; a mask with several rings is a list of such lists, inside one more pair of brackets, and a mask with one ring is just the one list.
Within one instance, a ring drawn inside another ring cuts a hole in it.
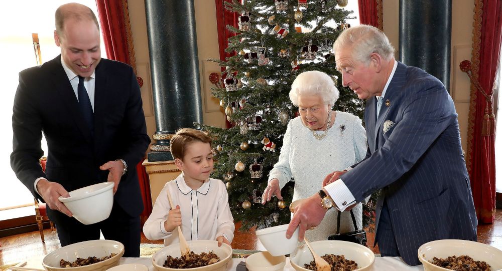
[{"label": "grey-haired man's hand gripping the small white bowl, below gold watch", "polygon": [[303,241],[305,231],[312,227],[318,226],[324,215],[326,209],[321,206],[321,196],[318,193],[306,198],[295,207],[295,214],[289,222],[288,230],[286,231],[286,238],[291,238],[293,232],[299,226],[298,240]]}]

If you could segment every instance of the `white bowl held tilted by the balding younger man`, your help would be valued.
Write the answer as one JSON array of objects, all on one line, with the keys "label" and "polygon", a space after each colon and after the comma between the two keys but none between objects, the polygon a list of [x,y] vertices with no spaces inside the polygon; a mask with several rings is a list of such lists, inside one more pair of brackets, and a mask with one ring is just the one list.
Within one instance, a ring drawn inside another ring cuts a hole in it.
[{"label": "white bowl held tilted by the balding younger man", "polygon": [[82,224],[94,224],[110,216],[113,207],[113,182],[102,182],[70,191],[70,197],[59,197]]}]

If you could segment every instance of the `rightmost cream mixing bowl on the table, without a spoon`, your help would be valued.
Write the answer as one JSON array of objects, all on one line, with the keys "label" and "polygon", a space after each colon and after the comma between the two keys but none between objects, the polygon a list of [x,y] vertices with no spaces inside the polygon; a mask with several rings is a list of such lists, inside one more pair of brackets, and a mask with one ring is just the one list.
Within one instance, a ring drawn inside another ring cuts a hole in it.
[{"label": "rightmost cream mixing bowl on the table, without a spoon", "polygon": [[418,259],[424,264],[425,271],[449,270],[430,263],[429,260],[433,257],[447,258],[461,255],[467,255],[473,260],[485,261],[491,265],[491,270],[502,269],[502,251],[487,244],[445,239],[431,241],[418,248]]}]

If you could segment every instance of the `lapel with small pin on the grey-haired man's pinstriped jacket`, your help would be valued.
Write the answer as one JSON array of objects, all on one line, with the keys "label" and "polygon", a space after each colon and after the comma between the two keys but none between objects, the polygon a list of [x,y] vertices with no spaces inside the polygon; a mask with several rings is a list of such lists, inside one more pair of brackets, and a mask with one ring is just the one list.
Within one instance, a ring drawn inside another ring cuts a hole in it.
[{"label": "lapel with small pin on the grey-haired man's pinstriped jacket", "polygon": [[[396,105],[397,97],[399,97],[400,90],[405,85],[405,83],[406,83],[406,66],[403,63],[398,62],[398,67],[396,68],[396,72],[392,77],[389,87],[387,87],[387,91],[384,97],[384,102],[382,104],[382,107],[380,108],[380,114],[378,115],[378,119],[376,120],[376,125],[374,129],[375,149],[378,148],[378,146],[376,146],[377,143],[376,138],[379,137],[382,123],[387,118],[387,114],[389,113],[391,107],[393,105]],[[374,99],[372,100],[374,101]],[[389,101],[389,103],[387,103],[387,101]]]}]

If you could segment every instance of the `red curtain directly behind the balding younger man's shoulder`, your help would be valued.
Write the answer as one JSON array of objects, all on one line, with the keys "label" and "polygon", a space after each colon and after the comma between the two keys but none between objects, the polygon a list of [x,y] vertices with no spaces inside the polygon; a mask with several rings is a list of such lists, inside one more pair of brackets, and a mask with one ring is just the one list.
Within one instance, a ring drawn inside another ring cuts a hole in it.
[{"label": "red curtain directly behind the balding younger man's shoulder", "polygon": [[127,0],[96,0],[106,55],[129,64],[136,72]]}]

